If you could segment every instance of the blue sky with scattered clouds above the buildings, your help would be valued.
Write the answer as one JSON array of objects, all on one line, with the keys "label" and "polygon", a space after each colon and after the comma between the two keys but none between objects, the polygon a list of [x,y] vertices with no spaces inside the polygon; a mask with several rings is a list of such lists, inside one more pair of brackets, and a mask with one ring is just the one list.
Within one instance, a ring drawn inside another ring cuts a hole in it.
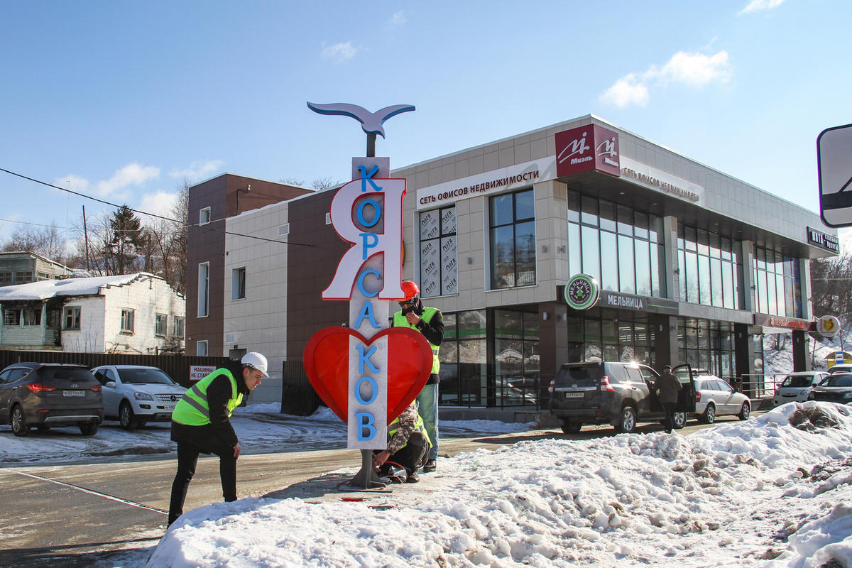
[{"label": "blue sky with scattered clouds above the buildings", "polygon": [[[843,0],[8,2],[0,168],[162,212],[185,177],[344,181],[366,137],[305,101],[407,103],[378,140],[394,168],[593,113],[819,211],[849,21]],[[0,192],[3,220],[105,208]]]}]

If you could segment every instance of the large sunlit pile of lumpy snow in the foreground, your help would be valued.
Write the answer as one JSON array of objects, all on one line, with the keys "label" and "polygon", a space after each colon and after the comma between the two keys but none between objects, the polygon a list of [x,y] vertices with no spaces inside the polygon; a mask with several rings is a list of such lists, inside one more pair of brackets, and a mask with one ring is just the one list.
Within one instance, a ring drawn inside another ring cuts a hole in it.
[{"label": "large sunlit pile of lumpy snow in the foreground", "polygon": [[850,434],[849,407],[791,403],[688,438],[477,450],[392,494],[348,494],[365,502],[197,509],[148,565],[849,566]]}]

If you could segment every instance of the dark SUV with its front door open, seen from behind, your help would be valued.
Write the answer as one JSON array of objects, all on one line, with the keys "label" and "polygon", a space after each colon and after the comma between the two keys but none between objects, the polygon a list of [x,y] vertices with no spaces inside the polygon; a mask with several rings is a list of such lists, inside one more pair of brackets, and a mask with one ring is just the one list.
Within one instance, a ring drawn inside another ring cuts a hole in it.
[{"label": "dark SUV with its front door open, seen from behind", "polygon": [[[682,382],[675,427],[686,424],[695,411],[694,373],[688,364],[673,373]],[[583,424],[612,424],[632,432],[636,422],[662,421],[663,405],[654,391],[657,371],[644,364],[604,361],[563,364],[550,382],[550,412],[562,421],[562,431],[577,433]]]}]

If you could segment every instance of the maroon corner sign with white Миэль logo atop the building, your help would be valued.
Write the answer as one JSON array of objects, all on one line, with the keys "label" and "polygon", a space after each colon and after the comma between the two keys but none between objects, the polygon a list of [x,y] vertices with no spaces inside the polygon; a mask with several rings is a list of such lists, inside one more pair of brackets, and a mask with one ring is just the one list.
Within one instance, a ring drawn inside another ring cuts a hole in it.
[{"label": "maroon corner sign with white \u041c\u0438\u044d\u043b\u044c logo atop the building", "polygon": [[621,175],[619,135],[597,124],[556,133],[556,175],[597,170]]}]

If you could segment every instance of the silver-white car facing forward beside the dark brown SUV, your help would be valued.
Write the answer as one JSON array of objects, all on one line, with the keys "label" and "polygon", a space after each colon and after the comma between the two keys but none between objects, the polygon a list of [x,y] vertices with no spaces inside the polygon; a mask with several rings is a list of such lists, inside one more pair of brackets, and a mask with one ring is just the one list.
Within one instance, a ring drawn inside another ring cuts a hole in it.
[{"label": "silver-white car facing forward beside the dark brown SUV", "polygon": [[175,404],[187,390],[158,367],[109,364],[92,372],[103,386],[104,414],[121,422],[125,430],[146,422],[169,422]]}]

